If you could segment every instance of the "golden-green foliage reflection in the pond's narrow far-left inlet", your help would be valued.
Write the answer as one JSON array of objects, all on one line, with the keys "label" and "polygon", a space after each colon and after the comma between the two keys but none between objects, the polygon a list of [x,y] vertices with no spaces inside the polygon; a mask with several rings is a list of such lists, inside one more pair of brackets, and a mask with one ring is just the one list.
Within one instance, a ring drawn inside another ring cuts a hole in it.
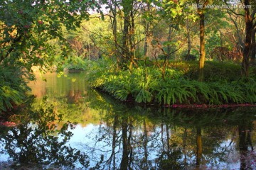
[{"label": "golden-green foliage reflection in the pond's narrow far-left inlet", "polygon": [[[40,108],[44,97],[54,106],[54,111],[63,113],[63,121],[70,120],[82,126],[87,125],[88,120],[90,123],[98,123],[99,111],[88,107],[88,103],[94,100],[95,93],[87,88],[84,79],[85,72],[68,73],[62,76],[59,74],[58,76],[46,74],[44,77],[47,82],[37,81],[36,85],[32,84],[33,93],[38,94],[33,108]],[[45,85],[41,86],[41,84]]]}]

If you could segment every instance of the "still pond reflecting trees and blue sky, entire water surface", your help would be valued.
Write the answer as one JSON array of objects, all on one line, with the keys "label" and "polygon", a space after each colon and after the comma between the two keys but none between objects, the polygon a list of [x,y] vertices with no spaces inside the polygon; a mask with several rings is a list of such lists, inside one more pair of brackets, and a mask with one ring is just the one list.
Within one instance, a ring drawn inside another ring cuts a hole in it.
[{"label": "still pond reflecting trees and blue sky, entire water surface", "polygon": [[124,104],[85,73],[38,75],[0,126],[0,169],[256,169],[256,108]]}]

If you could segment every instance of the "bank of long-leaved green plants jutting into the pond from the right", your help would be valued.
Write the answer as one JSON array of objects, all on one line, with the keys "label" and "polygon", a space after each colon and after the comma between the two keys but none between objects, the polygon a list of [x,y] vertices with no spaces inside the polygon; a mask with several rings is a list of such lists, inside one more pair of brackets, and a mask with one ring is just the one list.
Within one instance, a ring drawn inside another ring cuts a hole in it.
[{"label": "bank of long-leaved green plants jutting into the pond from the right", "polygon": [[212,69],[208,70],[210,74],[216,74],[214,77],[207,77],[210,81],[201,82],[188,77],[183,69],[168,67],[163,79],[161,69],[154,67],[138,67],[132,71],[116,72],[111,67],[99,67],[98,64],[90,73],[90,83],[93,88],[101,89],[120,101],[136,103],[165,106],[256,103],[255,79],[240,78],[239,74],[235,77],[233,72],[238,71],[235,64],[234,67],[228,64],[230,74],[225,73],[225,68],[214,72],[216,68],[220,69],[220,66],[212,66]]}]

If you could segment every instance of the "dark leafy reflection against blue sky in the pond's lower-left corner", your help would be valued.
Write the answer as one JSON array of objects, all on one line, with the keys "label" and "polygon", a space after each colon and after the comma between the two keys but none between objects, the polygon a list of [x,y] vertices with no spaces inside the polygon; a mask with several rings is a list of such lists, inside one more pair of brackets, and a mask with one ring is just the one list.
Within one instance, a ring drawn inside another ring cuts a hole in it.
[{"label": "dark leafy reflection against blue sky in the pond's lower-left corner", "polygon": [[[23,164],[52,164],[53,166],[70,166],[82,164],[88,166],[87,156],[66,145],[72,132],[73,124],[64,123],[61,128],[55,125],[57,118],[53,106],[45,103],[37,111],[24,115],[22,124],[11,128],[4,137],[6,151],[14,161]],[[58,116],[61,121],[61,116]]]}]

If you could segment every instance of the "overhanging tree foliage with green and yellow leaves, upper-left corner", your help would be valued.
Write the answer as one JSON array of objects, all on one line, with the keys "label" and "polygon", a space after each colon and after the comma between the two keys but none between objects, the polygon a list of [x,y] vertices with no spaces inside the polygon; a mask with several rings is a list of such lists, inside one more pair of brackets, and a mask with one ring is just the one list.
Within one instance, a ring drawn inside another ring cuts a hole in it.
[{"label": "overhanging tree foliage with green and yellow leaves, upper-left corner", "polygon": [[64,45],[63,26],[68,30],[79,26],[81,20],[88,17],[86,9],[90,3],[1,1],[0,62],[23,64],[27,69],[37,64],[46,66],[55,54],[49,40],[58,38]]}]

